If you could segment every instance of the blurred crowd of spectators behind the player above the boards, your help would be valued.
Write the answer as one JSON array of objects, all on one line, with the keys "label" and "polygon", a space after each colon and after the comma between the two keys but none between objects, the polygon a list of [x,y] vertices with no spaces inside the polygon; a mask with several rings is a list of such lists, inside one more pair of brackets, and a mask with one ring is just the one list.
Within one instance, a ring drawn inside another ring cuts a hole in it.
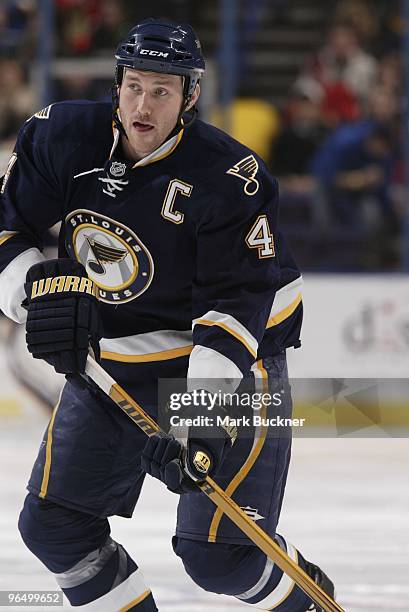
[{"label": "blurred crowd of spectators behind the player above the boards", "polygon": [[[70,68],[56,70],[48,103],[108,99],[113,49],[138,20],[190,21],[210,67],[201,114],[255,149],[279,178],[281,222],[301,268],[401,270],[408,204],[400,2],[238,2],[237,95],[228,125],[218,104],[220,2],[143,4],[54,2],[56,65]],[[0,2],[3,155],[38,110],[37,6],[33,0]],[[89,62],[100,66],[105,58],[105,73],[99,69],[95,78]],[[85,59],[87,70],[81,68]]]}]

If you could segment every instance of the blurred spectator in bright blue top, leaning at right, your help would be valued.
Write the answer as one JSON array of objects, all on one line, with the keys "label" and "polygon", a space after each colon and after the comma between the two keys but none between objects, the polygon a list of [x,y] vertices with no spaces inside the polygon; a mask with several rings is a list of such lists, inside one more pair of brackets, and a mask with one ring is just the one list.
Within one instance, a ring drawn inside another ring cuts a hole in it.
[{"label": "blurred spectator in bright blue top, leaning at right", "polygon": [[331,202],[334,221],[350,229],[394,225],[391,184],[396,166],[398,100],[376,88],[368,117],[338,128],[312,161],[313,175]]}]

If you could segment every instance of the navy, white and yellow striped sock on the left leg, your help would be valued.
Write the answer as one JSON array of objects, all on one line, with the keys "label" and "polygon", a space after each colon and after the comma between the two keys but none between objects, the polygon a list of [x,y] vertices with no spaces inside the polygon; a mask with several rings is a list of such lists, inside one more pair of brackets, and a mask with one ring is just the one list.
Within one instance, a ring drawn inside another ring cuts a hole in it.
[{"label": "navy, white and yellow striped sock on the left leg", "polygon": [[29,493],[19,530],[73,606],[95,612],[157,612],[136,563],[111,539],[107,519]]}]

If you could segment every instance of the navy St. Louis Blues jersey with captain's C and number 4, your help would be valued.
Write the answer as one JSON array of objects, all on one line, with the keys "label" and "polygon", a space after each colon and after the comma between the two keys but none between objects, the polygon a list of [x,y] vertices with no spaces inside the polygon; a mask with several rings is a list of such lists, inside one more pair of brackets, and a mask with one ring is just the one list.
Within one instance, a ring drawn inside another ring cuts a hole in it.
[{"label": "navy St. Louis Blues jersey with captain's C and number 4", "polygon": [[108,103],[29,119],[1,188],[0,306],[16,321],[26,271],[60,221],[59,255],[99,287],[104,366],[125,386],[187,367],[239,378],[299,344],[301,277],[279,232],[277,181],[220,130],[197,120],[135,163]]}]

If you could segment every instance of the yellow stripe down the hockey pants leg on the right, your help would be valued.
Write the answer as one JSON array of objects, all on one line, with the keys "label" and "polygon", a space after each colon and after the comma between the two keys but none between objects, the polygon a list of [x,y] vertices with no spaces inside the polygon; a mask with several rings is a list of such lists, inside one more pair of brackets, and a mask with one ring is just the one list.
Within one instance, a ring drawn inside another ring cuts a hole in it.
[{"label": "yellow stripe down the hockey pants leg on the right", "polygon": [[[263,393],[268,392],[268,376],[267,376],[267,372],[265,370],[265,368],[263,368],[262,365],[262,360],[259,359],[257,361],[257,363],[255,364],[255,368],[257,368],[257,370],[254,371],[254,374],[258,375],[256,377],[256,381],[260,380],[261,378],[261,384],[262,384],[262,390]],[[261,409],[261,418],[265,419],[267,416],[267,408],[265,406],[265,404],[263,404],[262,409]],[[233,480],[231,480],[231,482],[229,483],[229,485],[226,488],[226,494],[231,497],[234,493],[234,491],[240,486],[240,484],[243,482],[243,480],[247,477],[248,473],[250,472],[251,468],[253,467],[253,465],[255,464],[255,462],[257,461],[261,450],[264,446],[264,443],[266,441],[266,435],[267,435],[267,429],[268,426],[263,426],[260,428],[258,434],[259,437],[255,438],[254,440],[254,444],[253,447],[250,451],[250,454],[248,455],[246,461],[244,462],[244,464],[242,465],[242,467],[240,468],[240,470],[237,472],[237,474],[234,476]],[[210,524],[210,528],[209,528],[209,535],[207,538],[208,542],[215,542],[216,538],[217,538],[217,531],[219,529],[219,524],[220,521],[222,519],[223,516],[223,511],[220,508],[217,508],[217,510],[215,511],[214,515],[213,515],[213,519],[212,522]]]}]

